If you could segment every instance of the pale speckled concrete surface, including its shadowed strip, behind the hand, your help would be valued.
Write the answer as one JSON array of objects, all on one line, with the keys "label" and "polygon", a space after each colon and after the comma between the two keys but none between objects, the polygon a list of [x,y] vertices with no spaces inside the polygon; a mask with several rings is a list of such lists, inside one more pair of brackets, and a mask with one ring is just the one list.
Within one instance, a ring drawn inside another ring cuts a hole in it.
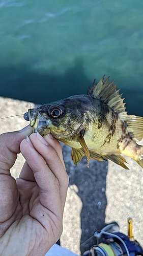
[{"label": "pale speckled concrete surface, including its shadowed strip, behind the hand", "polygon": [[[1,118],[24,114],[31,107],[34,104],[0,97]],[[0,133],[19,130],[27,124],[22,116],[0,119]],[[133,235],[143,245],[142,168],[130,158],[126,158],[130,170],[110,161],[94,160],[87,168],[85,157],[75,166],[70,157],[71,148],[64,144],[62,147],[70,182],[61,245],[80,255],[80,250],[87,250],[93,243],[93,239],[85,241],[105,222],[117,221],[121,231],[127,234],[127,217],[133,218]],[[17,159],[11,170],[14,177],[18,176],[23,162],[22,157]]]}]

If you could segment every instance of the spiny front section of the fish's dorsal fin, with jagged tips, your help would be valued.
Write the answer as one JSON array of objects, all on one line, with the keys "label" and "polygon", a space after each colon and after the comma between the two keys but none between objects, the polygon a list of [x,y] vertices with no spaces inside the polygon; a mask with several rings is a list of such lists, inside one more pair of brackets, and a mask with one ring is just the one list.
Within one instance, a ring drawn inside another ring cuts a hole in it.
[{"label": "spiny front section of the fish's dorsal fin, with jagged tips", "polygon": [[105,81],[104,76],[102,76],[97,85],[95,85],[94,80],[91,89],[88,89],[88,95],[103,100],[117,114],[123,113],[123,115],[127,115],[127,112],[125,112],[125,103],[123,103],[124,99],[122,99],[122,94],[119,94],[120,90],[116,90],[117,84],[116,86],[113,86],[113,82],[115,80],[108,83],[109,76]]}]

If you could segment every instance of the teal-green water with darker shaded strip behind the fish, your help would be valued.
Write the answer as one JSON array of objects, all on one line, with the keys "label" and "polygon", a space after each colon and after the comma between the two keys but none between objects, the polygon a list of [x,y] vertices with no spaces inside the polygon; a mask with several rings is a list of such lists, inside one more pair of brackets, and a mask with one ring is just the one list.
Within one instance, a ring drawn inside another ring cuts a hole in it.
[{"label": "teal-green water with darker shaded strip behind the fish", "polygon": [[0,1],[0,95],[47,103],[116,79],[143,116],[142,0]]}]

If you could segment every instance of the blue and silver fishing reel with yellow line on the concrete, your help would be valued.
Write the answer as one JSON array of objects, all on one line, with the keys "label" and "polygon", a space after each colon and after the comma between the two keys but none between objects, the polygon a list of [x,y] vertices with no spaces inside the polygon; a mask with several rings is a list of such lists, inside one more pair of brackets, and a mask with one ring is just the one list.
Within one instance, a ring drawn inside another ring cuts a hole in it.
[{"label": "blue and silver fishing reel with yellow line on the concrete", "polygon": [[132,219],[128,218],[128,236],[120,232],[117,223],[111,223],[94,233],[96,245],[83,256],[143,256],[143,250],[132,235]]}]

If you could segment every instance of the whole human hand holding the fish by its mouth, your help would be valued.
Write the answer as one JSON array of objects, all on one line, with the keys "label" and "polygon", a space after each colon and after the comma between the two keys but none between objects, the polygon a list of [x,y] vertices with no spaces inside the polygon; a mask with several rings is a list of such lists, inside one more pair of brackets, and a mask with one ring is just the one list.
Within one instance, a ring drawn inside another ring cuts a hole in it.
[{"label": "whole human hand holding the fish by its mouth", "polygon": [[[28,129],[0,136],[0,254],[45,255],[62,233],[68,188],[59,141]],[[28,141],[26,134],[30,136]],[[30,135],[31,134],[31,135]],[[26,162],[9,169],[21,151]]]}]

